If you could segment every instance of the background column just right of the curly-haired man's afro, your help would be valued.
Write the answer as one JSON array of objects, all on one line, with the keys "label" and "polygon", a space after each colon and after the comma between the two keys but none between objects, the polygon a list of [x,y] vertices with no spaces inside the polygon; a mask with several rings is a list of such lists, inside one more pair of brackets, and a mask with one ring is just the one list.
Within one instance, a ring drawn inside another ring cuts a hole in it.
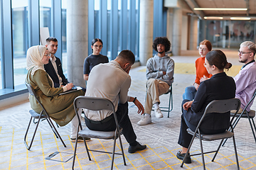
[{"label": "background column just right of the curly-haired man's afro", "polygon": [[173,33],[171,51],[173,55],[181,55],[182,8],[174,8]]}]

